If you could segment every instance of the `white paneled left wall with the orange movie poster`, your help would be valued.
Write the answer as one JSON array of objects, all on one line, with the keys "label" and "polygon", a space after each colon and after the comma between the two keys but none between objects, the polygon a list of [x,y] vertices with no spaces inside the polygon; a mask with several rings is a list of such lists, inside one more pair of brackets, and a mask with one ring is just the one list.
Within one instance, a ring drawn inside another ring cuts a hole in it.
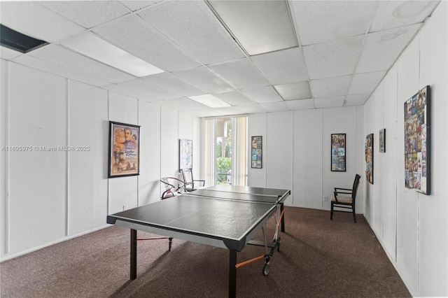
[{"label": "white paneled left wall with the orange movie poster", "polygon": [[[160,198],[178,174],[179,139],[200,119],[1,60],[0,146],[89,146],[87,152],[0,151],[1,260],[106,226],[106,215]],[[109,120],[141,126],[140,175],[107,178]],[[199,177],[198,177],[199,178]]]}]

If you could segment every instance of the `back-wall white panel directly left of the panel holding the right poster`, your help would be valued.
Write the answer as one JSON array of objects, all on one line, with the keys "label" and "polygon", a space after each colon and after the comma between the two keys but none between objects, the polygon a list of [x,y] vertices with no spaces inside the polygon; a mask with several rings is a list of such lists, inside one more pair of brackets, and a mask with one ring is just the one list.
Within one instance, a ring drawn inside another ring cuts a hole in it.
[{"label": "back-wall white panel directly left of the panel holding the right poster", "polygon": [[321,209],[322,110],[293,112],[293,206]]}]

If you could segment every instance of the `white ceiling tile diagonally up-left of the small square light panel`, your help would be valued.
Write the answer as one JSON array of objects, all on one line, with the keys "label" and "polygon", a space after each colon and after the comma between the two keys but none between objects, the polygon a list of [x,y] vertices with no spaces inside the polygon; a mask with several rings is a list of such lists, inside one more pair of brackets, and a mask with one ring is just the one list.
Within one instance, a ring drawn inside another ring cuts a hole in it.
[{"label": "white ceiling tile diagonally up-left of the small square light panel", "polygon": [[221,76],[237,89],[261,87],[269,85],[266,78],[253,65],[251,60],[239,59],[209,66],[212,71]]}]

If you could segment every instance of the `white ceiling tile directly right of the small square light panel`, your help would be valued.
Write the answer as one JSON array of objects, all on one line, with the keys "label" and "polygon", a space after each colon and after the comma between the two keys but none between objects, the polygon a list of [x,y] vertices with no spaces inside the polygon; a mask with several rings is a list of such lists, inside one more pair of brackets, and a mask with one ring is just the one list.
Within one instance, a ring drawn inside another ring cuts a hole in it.
[{"label": "white ceiling tile directly right of the small square light panel", "polygon": [[313,97],[335,97],[345,95],[349,91],[351,76],[337,76],[311,80]]}]

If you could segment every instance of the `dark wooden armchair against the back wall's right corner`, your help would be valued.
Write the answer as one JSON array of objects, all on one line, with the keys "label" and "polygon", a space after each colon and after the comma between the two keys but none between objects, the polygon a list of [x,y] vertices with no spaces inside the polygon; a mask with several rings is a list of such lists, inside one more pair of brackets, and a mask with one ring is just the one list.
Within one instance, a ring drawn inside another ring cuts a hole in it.
[{"label": "dark wooden armchair against the back wall's right corner", "polygon": [[[361,176],[356,174],[355,180],[353,181],[353,187],[351,187],[351,189],[335,187],[335,191],[333,192],[333,197],[331,198],[330,220],[333,219],[334,212],[348,212],[348,213],[353,213],[353,220],[356,223],[355,203],[356,203],[356,193],[358,192],[360,178],[361,178]],[[335,210],[335,208],[344,208],[344,209],[350,209],[350,210],[349,211]]]}]

